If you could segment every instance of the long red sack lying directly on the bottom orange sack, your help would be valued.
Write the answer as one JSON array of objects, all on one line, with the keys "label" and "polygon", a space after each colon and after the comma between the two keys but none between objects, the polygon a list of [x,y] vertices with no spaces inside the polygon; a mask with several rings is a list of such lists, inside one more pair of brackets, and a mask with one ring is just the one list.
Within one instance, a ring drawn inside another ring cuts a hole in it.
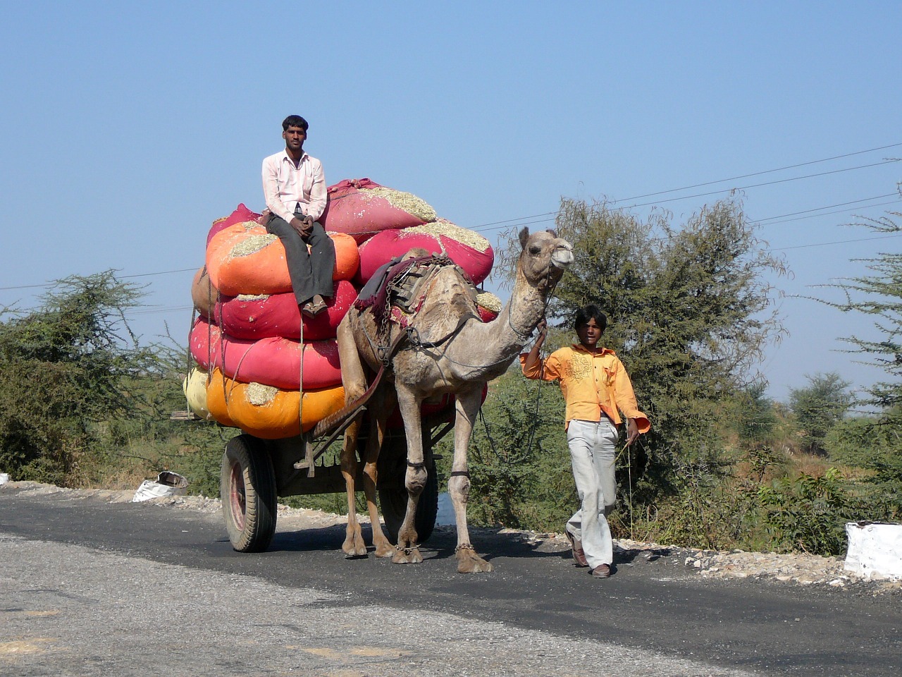
[{"label": "long red sack lying directly on the bottom orange sack", "polygon": [[304,387],[341,384],[338,343],[335,338],[305,341],[291,338],[232,338],[207,320],[198,318],[189,339],[191,356],[207,371],[214,367],[242,383],[261,383],[285,390],[300,390],[300,359],[304,359]]}]

